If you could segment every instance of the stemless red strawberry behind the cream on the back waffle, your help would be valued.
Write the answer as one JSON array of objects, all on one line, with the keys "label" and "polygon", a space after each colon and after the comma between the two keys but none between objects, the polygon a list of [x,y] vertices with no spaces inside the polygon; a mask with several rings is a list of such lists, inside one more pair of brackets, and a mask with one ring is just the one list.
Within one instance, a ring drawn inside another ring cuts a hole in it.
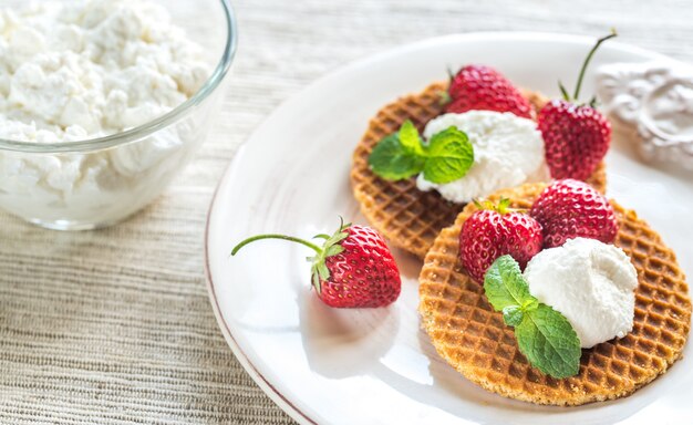
[{"label": "stemless red strawberry behind the cream on the back waffle", "polygon": [[498,71],[484,65],[466,65],[452,77],[447,112],[472,110],[511,112],[531,118],[531,105]]}]

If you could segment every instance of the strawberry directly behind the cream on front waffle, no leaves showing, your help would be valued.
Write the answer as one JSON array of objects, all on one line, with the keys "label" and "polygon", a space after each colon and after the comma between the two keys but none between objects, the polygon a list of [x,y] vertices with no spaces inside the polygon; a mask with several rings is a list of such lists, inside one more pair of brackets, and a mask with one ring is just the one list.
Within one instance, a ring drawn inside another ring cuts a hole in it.
[{"label": "strawberry directly behind the cream on front waffle, no leaves showing", "polygon": [[568,239],[590,238],[611,243],[618,222],[609,200],[590,185],[558,180],[544,189],[529,212],[544,229],[544,247],[560,247]]}]

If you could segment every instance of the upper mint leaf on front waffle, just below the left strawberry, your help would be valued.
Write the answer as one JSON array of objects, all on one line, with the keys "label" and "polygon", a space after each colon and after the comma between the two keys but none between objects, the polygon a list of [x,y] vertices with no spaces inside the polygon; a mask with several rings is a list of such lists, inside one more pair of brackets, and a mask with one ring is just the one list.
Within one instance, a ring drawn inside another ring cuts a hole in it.
[{"label": "upper mint leaf on front waffle, just below the left strawberry", "polygon": [[507,255],[498,257],[486,270],[484,291],[496,311],[501,311],[506,307],[523,307],[537,300],[529,293],[529,286],[523,277],[519,265]]}]

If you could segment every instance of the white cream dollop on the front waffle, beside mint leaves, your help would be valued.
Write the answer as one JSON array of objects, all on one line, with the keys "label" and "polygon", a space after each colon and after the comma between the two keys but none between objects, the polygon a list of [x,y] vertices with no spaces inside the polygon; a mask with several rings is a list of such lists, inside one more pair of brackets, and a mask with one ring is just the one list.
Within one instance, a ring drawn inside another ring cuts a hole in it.
[{"label": "white cream dollop on the front waffle, beside mint leaves", "polygon": [[583,349],[633,329],[638,273],[613,245],[570,239],[536,255],[525,279],[532,296],[568,319]]}]

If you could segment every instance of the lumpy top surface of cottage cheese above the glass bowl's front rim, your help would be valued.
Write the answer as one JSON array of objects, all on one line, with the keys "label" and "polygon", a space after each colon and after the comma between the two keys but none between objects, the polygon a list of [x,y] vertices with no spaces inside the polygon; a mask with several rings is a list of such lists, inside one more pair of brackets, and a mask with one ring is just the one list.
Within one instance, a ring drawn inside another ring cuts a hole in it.
[{"label": "lumpy top surface of cottage cheese above the glass bowl's front rim", "polygon": [[114,134],[169,112],[208,76],[201,48],[151,2],[49,1],[0,17],[2,138]]}]

